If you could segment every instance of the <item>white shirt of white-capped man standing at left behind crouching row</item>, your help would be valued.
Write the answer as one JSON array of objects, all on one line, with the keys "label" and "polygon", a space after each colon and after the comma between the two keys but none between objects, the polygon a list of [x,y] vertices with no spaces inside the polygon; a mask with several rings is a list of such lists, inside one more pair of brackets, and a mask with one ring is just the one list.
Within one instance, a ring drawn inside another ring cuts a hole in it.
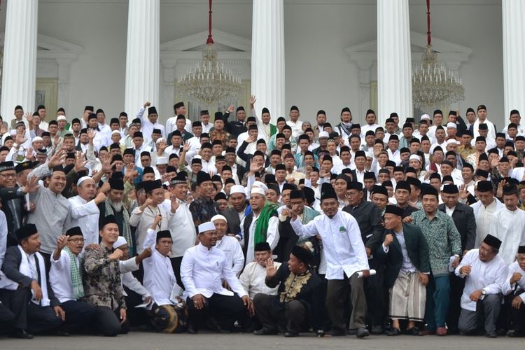
[{"label": "white shirt of white-capped man standing at left behind crouching row", "polygon": [[66,223],[65,229],[80,227],[84,235],[85,244],[99,244],[99,207],[94,200],[84,200],[82,197],[76,195],[69,198],[71,202],[71,212],[69,214],[69,222]]}]

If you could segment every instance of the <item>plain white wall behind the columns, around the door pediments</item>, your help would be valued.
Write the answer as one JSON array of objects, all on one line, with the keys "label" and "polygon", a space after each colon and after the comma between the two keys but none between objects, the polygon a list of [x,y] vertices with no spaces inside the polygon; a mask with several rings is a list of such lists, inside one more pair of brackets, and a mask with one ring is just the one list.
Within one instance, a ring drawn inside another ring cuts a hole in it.
[{"label": "plain white wall behind the columns, around the door pediments", "polygon": [[[342,107],[349,106],[354,118],[362,120],[358,70],[344,48],[376,38],[376,0],[284,1],[287,109],[297,105],[304,120],[314,120],[316,111],[325,109],[329,121],[337,123]],[[460,69],[465,86],[461,112],[483,103],[489,118],[503,125],[500,1],[446,2],[432,3],[433,35],[473,50]],[[3,26],[5,1],[1,8]],[[251,38],[251,15],[250,0],[214,1],[214,28],[221,31]],[[424,1],[410,0],[410,24],[413,31],[426,32]],[[205,29],[207,1],[161,1],[161,43]],[[126,31],[124,0],[39,3],[38,32],[84,49],[71,65],[70,118],[80,116],[85,104],[104,108],[108,117],[123,109]]]}]

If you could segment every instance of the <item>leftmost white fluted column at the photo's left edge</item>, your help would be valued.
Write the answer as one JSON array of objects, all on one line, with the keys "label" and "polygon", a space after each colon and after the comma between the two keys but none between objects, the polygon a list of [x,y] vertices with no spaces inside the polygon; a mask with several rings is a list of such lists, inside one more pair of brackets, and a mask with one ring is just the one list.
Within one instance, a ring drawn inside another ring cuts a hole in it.
[{"label": "leftmost white fluted column at the photo's left edge", "polygon": [[1,115],[10,124],[15,106],[34,111],[38,0],[7,2],[3,45]]}]

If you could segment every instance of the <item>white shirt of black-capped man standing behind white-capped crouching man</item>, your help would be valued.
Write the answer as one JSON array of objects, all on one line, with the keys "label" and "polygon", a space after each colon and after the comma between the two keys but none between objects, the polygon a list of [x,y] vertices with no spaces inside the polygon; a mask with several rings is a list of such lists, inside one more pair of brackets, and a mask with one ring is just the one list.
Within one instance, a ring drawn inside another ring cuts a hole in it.
[{"label": "white shirt of black-capped man standing behind white-capped crouching man", "polygon": [[[172,258],[177,258],[184,255],[186,249],[195,246],[195,239],[197,238],[197,232],[195,231],[195,224],[193,223],[193,216],[190,212],[188,203],[179,202],[179,208],[172,213],[168,220],[168,230],[172,232]],[[160,204],[165,211],[172,210],[172,201],[165,200]]]}]

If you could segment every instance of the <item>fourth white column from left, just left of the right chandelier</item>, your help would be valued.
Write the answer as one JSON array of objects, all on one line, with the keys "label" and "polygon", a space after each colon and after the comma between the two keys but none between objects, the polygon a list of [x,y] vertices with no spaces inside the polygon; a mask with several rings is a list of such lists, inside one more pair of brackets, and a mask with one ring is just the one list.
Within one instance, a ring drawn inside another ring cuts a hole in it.
[{"label": "fourth white column from left, just left of the right chandelier", "polygon": [[408,0],[377,0],[377,99],[379,125],[413,117]]}]

